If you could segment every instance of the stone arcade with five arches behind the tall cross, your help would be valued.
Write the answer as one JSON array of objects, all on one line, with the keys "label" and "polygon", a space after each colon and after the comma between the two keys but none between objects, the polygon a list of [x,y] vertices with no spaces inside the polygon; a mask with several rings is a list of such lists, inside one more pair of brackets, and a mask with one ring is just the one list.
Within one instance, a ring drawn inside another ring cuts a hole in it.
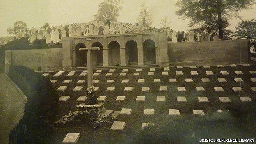
[{"label": "stone arcade with five arches behind the tall cross", "polygon": [[[85,67],[86,55],[79,48],[86,47],[100,48],[92,52],[93,66],[168,66],[166,37],[165,32],[63,37],[63,69]],[[87,46],[87,39],[91,39],[91,46]]]}]

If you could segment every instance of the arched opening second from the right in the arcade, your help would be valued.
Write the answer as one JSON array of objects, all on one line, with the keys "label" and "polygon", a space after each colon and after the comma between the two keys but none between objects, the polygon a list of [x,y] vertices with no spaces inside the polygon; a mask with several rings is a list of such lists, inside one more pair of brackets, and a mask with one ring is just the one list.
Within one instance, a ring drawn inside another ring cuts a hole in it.
[{"label": "arched opening second from the right in the arcade", "polygon": [[126,42],[126,65],[138,65],[138,45],[136,41]]}]

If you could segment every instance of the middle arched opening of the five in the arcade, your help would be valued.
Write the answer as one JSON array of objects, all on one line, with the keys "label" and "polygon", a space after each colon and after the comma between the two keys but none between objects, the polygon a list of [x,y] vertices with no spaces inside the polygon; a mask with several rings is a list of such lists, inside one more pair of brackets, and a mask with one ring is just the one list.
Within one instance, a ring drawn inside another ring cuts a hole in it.
[{"label": "middle arched opening of the five in the arcade", "polygon": [[117,41],[108,44],[108,60],[110,66],[120,65],[120,45]]}]

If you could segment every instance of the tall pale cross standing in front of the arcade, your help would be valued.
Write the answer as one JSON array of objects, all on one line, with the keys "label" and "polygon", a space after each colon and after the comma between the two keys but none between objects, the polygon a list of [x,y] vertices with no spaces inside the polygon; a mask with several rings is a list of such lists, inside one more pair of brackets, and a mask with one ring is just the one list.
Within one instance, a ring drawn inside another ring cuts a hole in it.
[{"label": "tall pale cross standing in front of the arcade", "polygon": [[99,47],[91,47],[91,39],[87,40],[87,46],[88,48],[79,48],[80,52],[85,52],[87,57],[87,88],[88,90],[93,87],[93,75],[92,75],[92,56],[91,51],[100,51],[101,49]]}]

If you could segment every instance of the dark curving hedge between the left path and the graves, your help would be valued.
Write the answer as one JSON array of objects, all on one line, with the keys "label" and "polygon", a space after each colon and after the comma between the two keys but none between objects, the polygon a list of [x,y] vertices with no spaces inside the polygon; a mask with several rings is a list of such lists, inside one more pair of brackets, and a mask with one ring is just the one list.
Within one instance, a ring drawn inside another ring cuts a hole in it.
[{"label": "dark curving hedge between the left path and the graves", "polygon": [[49,80],[25,66],[11,67],[9,77],[27,96],[25,113],[18,124],[15,143],[53,143],[53,123],[58,112],[57,91]]}]

